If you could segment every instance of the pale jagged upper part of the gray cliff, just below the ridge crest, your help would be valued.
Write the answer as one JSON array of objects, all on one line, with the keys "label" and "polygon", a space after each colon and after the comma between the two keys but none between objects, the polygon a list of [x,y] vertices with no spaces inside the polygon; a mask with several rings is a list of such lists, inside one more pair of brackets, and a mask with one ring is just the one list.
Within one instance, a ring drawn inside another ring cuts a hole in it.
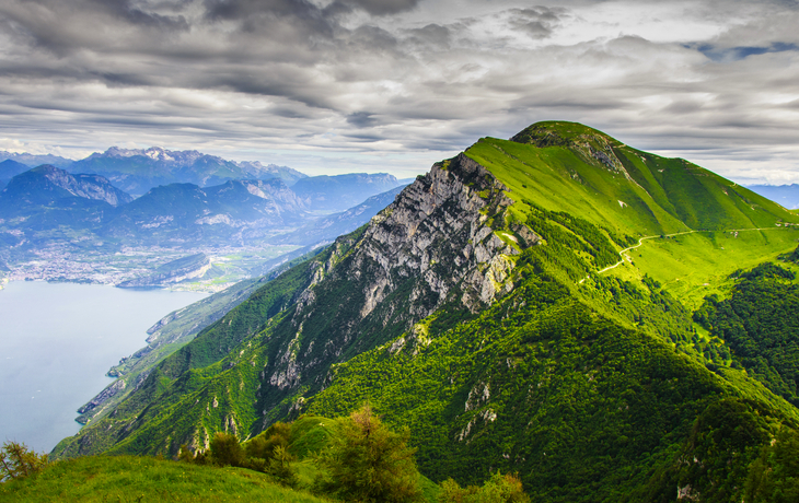
[{"label": "pale jagged upper part of the gray cliff, just below the ridge crest", "polygon": [[[502,293],[500,283],[512,268],[502,255],[517,252],[486,221],[511,203],[503,190],[508,188],[463,154],[447,167],[435,165],[408,186],[372,219],[354,264],[356,276],[366,261],[380,266],[371,271],[373,279],[363,292],[361,317],[396,290],[397,277],[419,279],[412,300],[425,290],[435,293],[433,304],[415,306],[418,317],[436,311],[459,284],[461,302],[472,311]],[[485,191],[488,195],[480,197]]]}]

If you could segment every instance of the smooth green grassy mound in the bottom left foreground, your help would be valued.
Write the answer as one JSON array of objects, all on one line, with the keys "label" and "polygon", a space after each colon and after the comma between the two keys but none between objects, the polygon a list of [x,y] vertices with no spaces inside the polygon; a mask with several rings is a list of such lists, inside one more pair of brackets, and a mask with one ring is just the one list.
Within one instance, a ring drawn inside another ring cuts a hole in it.
[{"label": "smooth green grassy mound in the bottom left foreground", "polygon": [[8,503],[327,501],[281,487],[256,471],[144,456],[88,456],[58,461],[38,476],[0,484],[0,500]]}]

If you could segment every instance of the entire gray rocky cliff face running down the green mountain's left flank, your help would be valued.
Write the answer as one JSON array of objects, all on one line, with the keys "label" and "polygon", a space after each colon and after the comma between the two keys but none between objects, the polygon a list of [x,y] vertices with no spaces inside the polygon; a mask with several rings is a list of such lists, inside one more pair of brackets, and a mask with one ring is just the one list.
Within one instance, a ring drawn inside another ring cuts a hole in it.
[{"label": "entire gray rocky cliff face running down the green mountain's left flank", "polygon": [[[397,330],[413,331],[447,302],[477,312],[508,293],[513,288],[507,281],[513,268],[509,257],[519,252],[489,226],[512,202],[506,190],[463,154],[436,164],[406,187],[351,247],[315,264],[298,296],[292,331],[264,384],[296,388],[303,375],[319,375],[314,370],[381,343]],[[534,244],[533,236],[530,232],[524,241]],[[326,321],[323,334],[306,328],[319,326],[332,304],[348,306],[347,314]]]}]

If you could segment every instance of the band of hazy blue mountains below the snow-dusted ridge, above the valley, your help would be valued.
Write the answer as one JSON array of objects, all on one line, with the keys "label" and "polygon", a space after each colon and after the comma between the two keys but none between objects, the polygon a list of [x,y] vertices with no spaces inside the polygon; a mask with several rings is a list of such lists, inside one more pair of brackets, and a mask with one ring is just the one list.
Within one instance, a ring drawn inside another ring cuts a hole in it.
[{"label": "band of hazy blue mountains below the snow-dusted ridge, above the valley", "polygon": [[[20,169],[16,164],[2,167],[7,173]],[[13,176],[0,191],[0,249],[36,249],[56,243],[171,248],[305,246],[366,223],[401,187],[386,174],[304,180],[310,183],[300,187],[300,194],[280,178],[233,179],[208,187],[162,185],[134,199],[104,176],[43,165]],[[384,190],[390,194],[378,196]],[[363,202],[373,196],[378,198]],[[359,202],[363,204],[346,212]],[[344,213],[316,222],[320,213],[340,208]]]}]

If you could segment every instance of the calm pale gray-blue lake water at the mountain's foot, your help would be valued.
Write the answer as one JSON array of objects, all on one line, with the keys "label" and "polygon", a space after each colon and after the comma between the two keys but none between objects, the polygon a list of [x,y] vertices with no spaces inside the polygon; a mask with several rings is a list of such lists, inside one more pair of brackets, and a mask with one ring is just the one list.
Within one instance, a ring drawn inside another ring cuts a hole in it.
[{"label": "calm pale gray-blue lake water at the mountain's foot", "polygon": [[81,428],[76,412],[147,344],[164,315],[207,296],[165,290],[15,281],[0,290],[0,442],[49,452]]}]

